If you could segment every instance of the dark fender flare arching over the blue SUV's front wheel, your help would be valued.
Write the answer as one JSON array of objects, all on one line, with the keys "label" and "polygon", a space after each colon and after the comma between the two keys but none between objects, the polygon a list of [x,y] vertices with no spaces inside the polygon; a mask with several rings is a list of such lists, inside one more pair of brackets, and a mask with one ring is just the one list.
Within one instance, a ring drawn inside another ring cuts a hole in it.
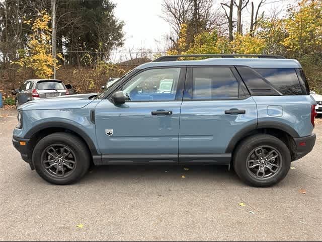
[{"label": "dark fender flare arching over the blue SUV's front wheel", "polygon": [[63,128],[63,129],[73,131],[77,135],[81,136],[83,138],[83,140],[85,140],[85,142],[88,145],[93,156],[99,155],[94,142],[82,129],[80,129],[74,125],[59,122],[59,121],[52,121],[52,122],[46,122],[46,123],[39,124],[39,125],[33,127],[32,129],[30,129],[26,133],[24,138],[31,139],[35,134],[39,133],[40,131],[46,130],[48,128]]}]

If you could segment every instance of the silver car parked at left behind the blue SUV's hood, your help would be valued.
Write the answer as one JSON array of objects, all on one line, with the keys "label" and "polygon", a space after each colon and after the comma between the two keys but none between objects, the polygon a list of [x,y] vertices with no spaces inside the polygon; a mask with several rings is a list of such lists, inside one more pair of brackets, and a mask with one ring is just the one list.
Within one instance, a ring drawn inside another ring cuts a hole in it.
[{"label": "silver car parked at left behind the blue SUV's hood", "polygon": [[69,95],[66,86],[60,80],[31,79],[23,83],[16,91],[16,106],[40,98],[52,98]]}]

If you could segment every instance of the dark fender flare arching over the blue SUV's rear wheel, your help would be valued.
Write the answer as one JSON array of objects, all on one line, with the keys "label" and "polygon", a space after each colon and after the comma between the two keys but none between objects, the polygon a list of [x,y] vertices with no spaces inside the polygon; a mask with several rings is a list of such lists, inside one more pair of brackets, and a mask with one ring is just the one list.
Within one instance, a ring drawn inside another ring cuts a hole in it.
[{"label": "dark fender flare arching over the blue SUV's rear wheel", "polygon": [[259,129],[275,129],[275,130],[280,130],[285,133],[287,133],[289,136],[292,138],[299,138],[299,134],[297,133],[296,130],[294,130],[292,127],[290,127],[287,124],[281,123],[281,122],[276,122],[276,121],[260,121],[257,124],[252,124],[244,129],[238,131],[230,140],[225,153],[231,154],[236,146],[236,144],[246,138],[249,134],[252,132],[256,132]]}]

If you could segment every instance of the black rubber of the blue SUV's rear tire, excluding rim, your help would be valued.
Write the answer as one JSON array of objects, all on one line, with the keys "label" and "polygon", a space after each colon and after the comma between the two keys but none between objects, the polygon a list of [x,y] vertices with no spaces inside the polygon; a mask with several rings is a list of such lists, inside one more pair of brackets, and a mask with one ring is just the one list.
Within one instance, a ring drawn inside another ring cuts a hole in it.
[{"label": "black rubber of the blue SUV's rear tire, excluding rim", "polygon": [[[264,180],[256,179],[248,171],[247,158],[250,153],[260,146],[271,146],[279,151],[282,167],[279,172]],[[291,155],[287,146],[279,139],[270,135],[258,135],[245,140],[238,148],[234,157],[234,168],[237,175],[247,184],[255,187],[270,187],[281,181],[287,175],[291,166]]]}]

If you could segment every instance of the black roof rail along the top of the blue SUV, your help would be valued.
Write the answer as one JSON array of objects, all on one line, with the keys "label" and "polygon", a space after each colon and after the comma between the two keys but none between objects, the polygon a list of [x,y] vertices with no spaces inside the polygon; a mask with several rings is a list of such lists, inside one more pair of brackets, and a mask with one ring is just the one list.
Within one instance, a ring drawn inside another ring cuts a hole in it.
[{"label": "black roof rail along the top of the blue SUV", "polygon": [[182,57],[208,57],[208,58],[234,58],[234,57],[258,57],[271,59],[285,59],[282,55],[272,54],[180,54],[180,55],[166,55],[154,59],[153,62],[175,62]]}]

